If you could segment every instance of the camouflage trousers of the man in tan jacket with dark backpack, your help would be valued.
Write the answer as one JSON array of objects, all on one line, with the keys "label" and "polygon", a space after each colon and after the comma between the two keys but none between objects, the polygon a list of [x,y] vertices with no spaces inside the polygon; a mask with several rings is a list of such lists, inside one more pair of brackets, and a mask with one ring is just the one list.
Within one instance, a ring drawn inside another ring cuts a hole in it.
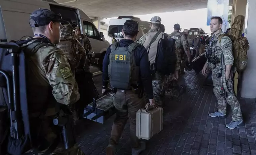
[{"label": "camouflage trousers of the man in tan jacket with dark backpack", "polygon": [[165,98],[165,90],[163,87],[164,76],[157,75],[157,78],[152,80],[153,85],[153,95],[155,98],[155,104],[157,106],[163,106]]}]

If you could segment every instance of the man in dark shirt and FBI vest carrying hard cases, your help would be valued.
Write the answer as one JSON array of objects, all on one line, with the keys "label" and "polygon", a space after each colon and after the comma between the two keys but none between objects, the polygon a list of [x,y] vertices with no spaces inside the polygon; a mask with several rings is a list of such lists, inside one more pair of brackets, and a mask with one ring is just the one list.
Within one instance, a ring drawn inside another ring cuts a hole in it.
[{"label": "man in dark shirt and FBI vest carrying hard cases", "polygon": [[114,155],[128,118],[132,155],[138,155],[145,149],[145,143],[136,137],[136,112],[145,105],[144,90],[151,106],[154,106],[155,102],[147,50],[143,45],[134,42],[138,28],[136,21],[127,20],[122,30],[124,39],[113,43],[107,49],[103,60],[102,93],[110,81],[116,108],[116,119],[112,126],[109,146],[106,148],[107,155]]}]

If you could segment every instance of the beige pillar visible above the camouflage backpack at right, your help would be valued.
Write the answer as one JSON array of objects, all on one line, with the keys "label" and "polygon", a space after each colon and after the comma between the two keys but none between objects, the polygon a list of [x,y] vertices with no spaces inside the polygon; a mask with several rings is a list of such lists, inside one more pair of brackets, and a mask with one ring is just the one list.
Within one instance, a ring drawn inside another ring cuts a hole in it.
[{"label": "beige pillar visible above the camouflage backpack at right", "polygon": [[245,17],[246,4],[246,0],[233,0],[231,24],[233,23],[233,20],[235,19],[236,16],[243,15]]}]

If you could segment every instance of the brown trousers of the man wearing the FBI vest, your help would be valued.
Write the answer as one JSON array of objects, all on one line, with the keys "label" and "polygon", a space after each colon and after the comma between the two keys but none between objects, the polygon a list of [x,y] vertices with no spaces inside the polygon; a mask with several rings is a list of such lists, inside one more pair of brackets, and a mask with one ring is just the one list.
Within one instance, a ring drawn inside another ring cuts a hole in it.
[{"label": "brown trousers of the man wearing the FBI vest", "polygon": [[114,120],[109,144],[117,145],[127,119],[130,121],[130,140],[132,147],[139,147],[140,140],[136,136],[136,113],[145,104],[144,98],[139,98],[133,91],[117,90],[113,94],[114,106],[116,108],[116,119]]}]

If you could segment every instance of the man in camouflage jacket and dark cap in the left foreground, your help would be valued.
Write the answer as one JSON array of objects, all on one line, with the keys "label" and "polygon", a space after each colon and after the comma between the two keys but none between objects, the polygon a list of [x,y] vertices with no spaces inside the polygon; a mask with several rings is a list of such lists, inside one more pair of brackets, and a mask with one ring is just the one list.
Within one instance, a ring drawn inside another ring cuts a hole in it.
[{"label": "man in camouflage jacket and dark cap in the left foreground", "polygon": [[[57,126],[52,125],[53,118],[60,105],[72,108],[80,98],[78,85],[64,52],[54,44],[60,40],[60,15],[48,9],[38,9],[31,13],[29,24],[35,37],[27,44],[36,43],[33,49],[27,49],[28,109],[31,125],[31,138],[34,148],[43,154],[52,146],[60,134]],[[42,46],[43,44],[43,46]],[[58,142],[58,141],[56,141]],[[58,142],[59,143],[59,142]],[[59,143],[51,155],[83,155],[75,144],[70,149]],[[27,151],[27,153],[33,150]]]}]

